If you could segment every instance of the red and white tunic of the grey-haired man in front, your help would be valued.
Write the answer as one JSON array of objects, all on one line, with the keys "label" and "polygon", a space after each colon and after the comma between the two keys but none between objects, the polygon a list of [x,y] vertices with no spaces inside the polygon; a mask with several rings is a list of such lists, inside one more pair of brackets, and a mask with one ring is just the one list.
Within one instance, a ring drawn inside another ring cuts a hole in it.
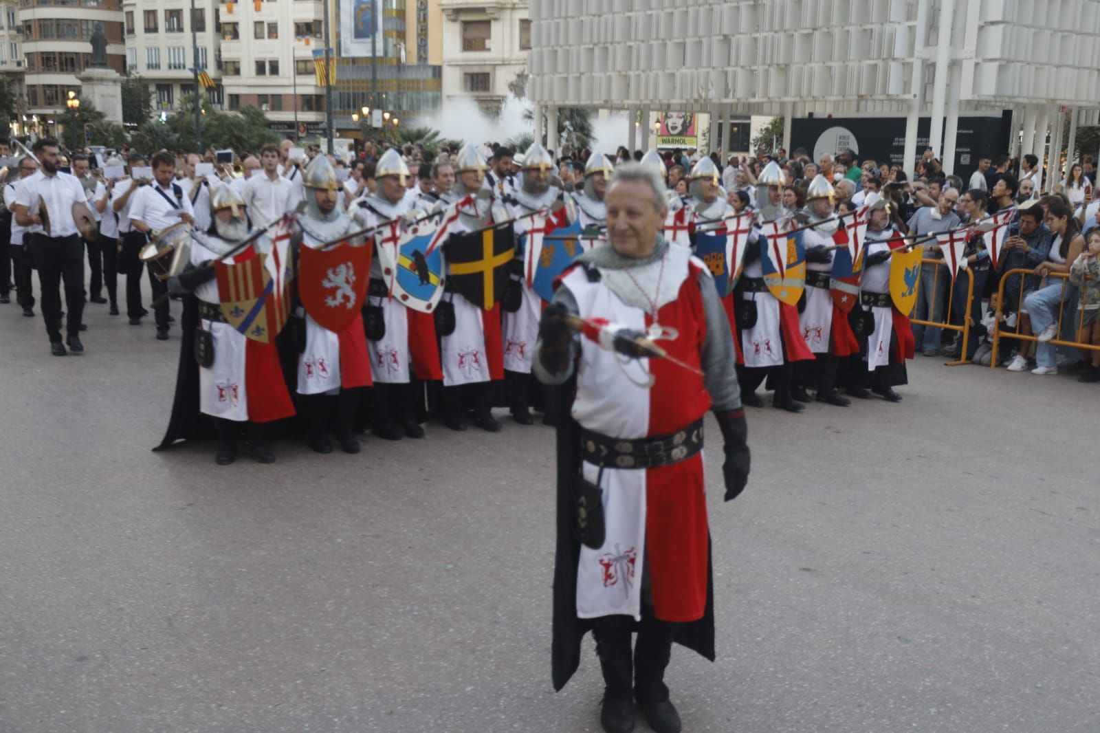
[{"label": "red and white tunic of the grey-haired man in front", "polygon": [[[659,343],[670,355],[700,368],[706,319],[698,278],[706,266],[678,245],[670,247],[666,258],[657,321],[676,329],[678,336]],[[652,262],[632,272],[659,266]],[[626,271],[601,270],[601,275],[594,281],[576,266],[562,277],[581,317],[606,318],[639,330],[653,322],[647,310],[624,303],[607,285],[609,277],[622,284]],[[628,440],[672,435],[711,406],[700,374],[663,359],[625,360],[587,338],[581,344],[572,415],[585,429]],[[645,559],[656,616],[669,622],[701,619],[710,541],[702,452],[650,469],[601,469],[585,461],[582,471],[603,489],[606,540],[596,550],[581,548],[578,616],[640,619]]]}]

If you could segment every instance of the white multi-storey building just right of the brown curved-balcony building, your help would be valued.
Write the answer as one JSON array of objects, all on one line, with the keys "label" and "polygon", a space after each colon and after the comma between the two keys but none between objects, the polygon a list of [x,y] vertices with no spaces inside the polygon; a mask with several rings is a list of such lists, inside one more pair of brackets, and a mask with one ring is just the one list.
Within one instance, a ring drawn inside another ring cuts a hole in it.
[{"label": "white multi-storey building just right of the brown curved-balcony building", "polygon": [[[216,61],[219,36],[215,29],[219,6],[215,0],[198,0],[193,18],[190,0],[160,3],[123,0],[127,72],[140,74],[148,83],[155,111],[173,112],[184,94],[195,92],[195,75],[190,69],[196,65],[196,56],[198,66],[220,81]],[[211,101],[220,108],[220,86],[211,92]]]}]

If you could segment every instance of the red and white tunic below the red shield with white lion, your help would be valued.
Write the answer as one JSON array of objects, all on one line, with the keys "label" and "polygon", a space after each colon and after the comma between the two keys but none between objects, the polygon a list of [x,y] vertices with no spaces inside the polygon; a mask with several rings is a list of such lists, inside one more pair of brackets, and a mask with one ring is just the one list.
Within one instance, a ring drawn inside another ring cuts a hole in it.
[{"label": "red and white tunic below the red shield with white lion", "polygon": [[[316,249],[323,242],[307,231],[301,245]],[[342,332],[324,328],[308,313],[306,349],[298,354],[298,394],[324,394],[337,390],[371,386],[363,316],[356,314]]]}]

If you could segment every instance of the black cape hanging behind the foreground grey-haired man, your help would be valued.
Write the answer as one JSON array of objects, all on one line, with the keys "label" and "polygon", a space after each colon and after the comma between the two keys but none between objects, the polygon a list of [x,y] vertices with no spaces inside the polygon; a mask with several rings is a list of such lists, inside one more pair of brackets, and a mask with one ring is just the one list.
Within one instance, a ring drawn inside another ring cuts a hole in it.
[{"label": "black cape hanging behind the foreground grey-haired man", "polygon": [[[551,646],[553,689],[565,687],[581,664],[581,639],[592,621],[576,617],[576,564],[581,544],[573,534],[573,480],[581,470],[581,426],[571,417],[576,391],[575,379],[548,387],[548,400],[559,406],[557,550],[553,570],[553,643]],[[698,621],[675,624],[673,641],[714,661],[714,566],[711,543],[706,550],[706,606]]]}]

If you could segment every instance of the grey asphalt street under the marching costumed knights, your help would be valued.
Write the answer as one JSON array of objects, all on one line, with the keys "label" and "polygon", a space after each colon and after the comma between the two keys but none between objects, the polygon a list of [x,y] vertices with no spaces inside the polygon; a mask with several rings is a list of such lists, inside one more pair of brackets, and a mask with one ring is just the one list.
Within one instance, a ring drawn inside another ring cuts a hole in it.
[{"label": "grey asphalt street under the marching costumed knights", "polygon": [[[0,306],[0,731],[600,730],[590,639],[550,686],[551,429],[153,453],[179,332],[86,314],[59,359]],[[718,659],[673,652],[685,731],[1100,730],[1100,390],[910,381],[750,409],[729,504],[712,441]]]}]

